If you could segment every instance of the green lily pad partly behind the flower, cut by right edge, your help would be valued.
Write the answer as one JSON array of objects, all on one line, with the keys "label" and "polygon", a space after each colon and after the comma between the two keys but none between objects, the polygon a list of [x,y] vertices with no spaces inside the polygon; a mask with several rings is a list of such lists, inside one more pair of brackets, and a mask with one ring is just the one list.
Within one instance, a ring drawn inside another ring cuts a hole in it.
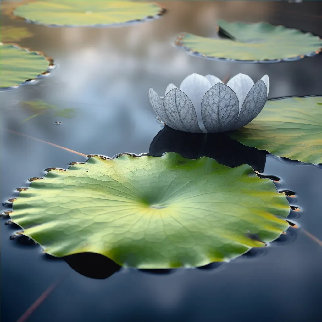
[{"label": "green lily pad partly behind the flower, cut by right edge", "polygon": [[322,97],[269,100],[251,123],[229,136],[276,156],[322,163]]}]

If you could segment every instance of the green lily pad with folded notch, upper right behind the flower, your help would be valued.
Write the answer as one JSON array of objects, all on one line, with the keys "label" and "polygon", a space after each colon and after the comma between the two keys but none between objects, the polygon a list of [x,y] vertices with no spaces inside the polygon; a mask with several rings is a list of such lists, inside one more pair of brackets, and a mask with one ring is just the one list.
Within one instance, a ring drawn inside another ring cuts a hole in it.
[{"label": "green lily pad with folded notch, upper right behind the flower", "polygon": [[176,44],[207,58],[264,61],[296,60],[322,49],[322,40],[297,29],[268,23],[218,20],[222,32],[232,39],[213,39],[186,33]]}]

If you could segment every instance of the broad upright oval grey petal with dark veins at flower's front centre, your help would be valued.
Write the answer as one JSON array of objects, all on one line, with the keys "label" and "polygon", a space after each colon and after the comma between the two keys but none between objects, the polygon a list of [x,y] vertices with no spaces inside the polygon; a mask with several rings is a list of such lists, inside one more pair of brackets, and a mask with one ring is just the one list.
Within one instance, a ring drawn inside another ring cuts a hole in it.
[{"label": "broad upright oval grey petal with dark veins at flower's front centre", "polygon": [[201,102],[201,115],[208,132],[225,132],[238,118],[239,103],[235,92],[223,83],[211,87]]}]

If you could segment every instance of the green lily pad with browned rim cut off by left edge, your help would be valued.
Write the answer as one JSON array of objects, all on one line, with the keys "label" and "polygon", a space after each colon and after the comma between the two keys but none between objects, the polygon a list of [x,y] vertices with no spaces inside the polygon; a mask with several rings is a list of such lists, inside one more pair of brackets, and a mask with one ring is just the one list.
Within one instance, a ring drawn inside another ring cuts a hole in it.
[{"label": "green lily pad with browned rim cut off by left edge", "polygon": [[45,73],[52,64],[46,57],[13,44],[1,44],[0,90],[18,87]]}]

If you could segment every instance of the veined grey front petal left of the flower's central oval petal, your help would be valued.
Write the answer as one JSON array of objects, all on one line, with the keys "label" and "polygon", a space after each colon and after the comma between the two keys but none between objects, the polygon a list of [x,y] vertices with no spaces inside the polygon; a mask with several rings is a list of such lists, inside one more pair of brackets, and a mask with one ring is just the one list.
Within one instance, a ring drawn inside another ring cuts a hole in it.
[{"label": "veined grey front petal left of the flower's central oval petal", "polygon": [[164,98],[166,125],[179,131],[202,133],[194,106],[188,96],[178,88],[170,90]]}]

